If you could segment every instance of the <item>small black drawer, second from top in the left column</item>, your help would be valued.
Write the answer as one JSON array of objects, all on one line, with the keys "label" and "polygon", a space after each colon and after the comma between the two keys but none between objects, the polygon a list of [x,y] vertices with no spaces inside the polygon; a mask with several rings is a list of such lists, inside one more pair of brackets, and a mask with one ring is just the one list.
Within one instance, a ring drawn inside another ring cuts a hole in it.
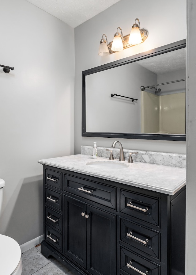
[{"label": "small black drawer, second from top in the left column", "polygon": [[45,189],[45,202],[47,206],[52,206],[62,210],[62,195],[50,189]]}]

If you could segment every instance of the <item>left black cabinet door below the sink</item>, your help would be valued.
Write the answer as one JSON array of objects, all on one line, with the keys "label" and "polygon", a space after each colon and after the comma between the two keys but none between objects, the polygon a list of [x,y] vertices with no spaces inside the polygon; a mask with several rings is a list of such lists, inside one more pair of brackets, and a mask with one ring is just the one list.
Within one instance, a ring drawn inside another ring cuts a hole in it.
[{"label": "left black cabinet door below the sink", "polygon": [[[65,254],[86,268],[86,205],[64,196],[65,207]],[[83,214],[85,215],[85,214]]]}]

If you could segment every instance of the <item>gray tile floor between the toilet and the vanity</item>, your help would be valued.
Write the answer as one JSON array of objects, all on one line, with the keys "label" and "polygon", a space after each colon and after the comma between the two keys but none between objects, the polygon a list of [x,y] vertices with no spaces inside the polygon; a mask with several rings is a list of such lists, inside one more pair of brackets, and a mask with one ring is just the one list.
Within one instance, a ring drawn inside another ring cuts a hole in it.
[{"label": "gray tile floor between the toilet and the vanity", "polygon": [[22,264],[22,275],[74,275],[55,258],[44,257],[40,252],[40,246],[22,253]]}]

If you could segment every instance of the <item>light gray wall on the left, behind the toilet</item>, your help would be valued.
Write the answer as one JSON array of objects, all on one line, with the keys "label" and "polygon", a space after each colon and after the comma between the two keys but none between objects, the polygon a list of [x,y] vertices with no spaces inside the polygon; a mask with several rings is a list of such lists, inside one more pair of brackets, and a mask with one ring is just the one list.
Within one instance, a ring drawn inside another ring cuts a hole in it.
[{"label": "light gray wall on the left, behind the toilet", "polygon": [[[42,165],[74,153],[74,29],[25,0],[1,0],[0,233],[43,234]],[[69,43],[67,43],[69,37]]]}]

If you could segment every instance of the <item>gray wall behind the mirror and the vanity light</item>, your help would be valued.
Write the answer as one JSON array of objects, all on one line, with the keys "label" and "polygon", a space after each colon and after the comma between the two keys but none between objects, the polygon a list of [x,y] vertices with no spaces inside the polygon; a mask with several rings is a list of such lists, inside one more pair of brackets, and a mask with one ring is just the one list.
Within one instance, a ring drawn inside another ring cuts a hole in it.
[{"label": "gray wall behind the mirror and the vanity light", "polygon": [[[178,9],[178,12],[174,12]],[[152,16],[153,15],[153,16]],[[105,33],[108,42],[118,26],[123,35],[130,33],[135,18],[139,18],[141,28],[149,31],[144,43],[109,56],[98,55],[99,41]],[[168,21],[172,31],[168,30]],[[186,38],[186,0],[145,1],[139,4],[122,0],[102,13],[75,28],[75,153],[81,152],[81,145],[111,146],[114,139],[81,137],[81,72],[127,56],[145,52]],[[120,81],[120,78],[118,79]],[[186,152],[185,142],[153,141],[139,139],[121,139],[123,147],[134,150],[152,150],[164,152]]]}]

